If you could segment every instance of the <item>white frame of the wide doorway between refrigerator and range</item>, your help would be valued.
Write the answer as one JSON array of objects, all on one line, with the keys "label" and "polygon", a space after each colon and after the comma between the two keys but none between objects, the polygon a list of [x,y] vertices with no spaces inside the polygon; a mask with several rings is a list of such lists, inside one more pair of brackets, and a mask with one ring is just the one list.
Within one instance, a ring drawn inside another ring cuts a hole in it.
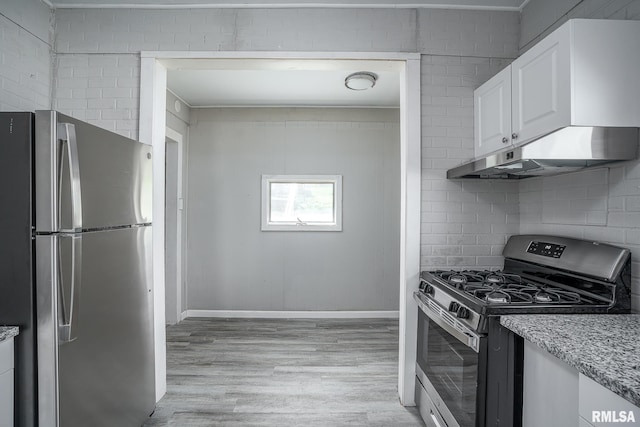
[{"label": "white frame of the wide doorway between refrigerator and range", "polygon": [[376,52],[141,52],[140,141],[153,146],[153,278],[156,340],[156,399],[166,392],[164,301],[164,179],[167,68],[170,59],[317,59],[401,61],[400,73],[400,293],[398,394],[415,405],[417,307],[413,292],[420,276],[420,54]]}]

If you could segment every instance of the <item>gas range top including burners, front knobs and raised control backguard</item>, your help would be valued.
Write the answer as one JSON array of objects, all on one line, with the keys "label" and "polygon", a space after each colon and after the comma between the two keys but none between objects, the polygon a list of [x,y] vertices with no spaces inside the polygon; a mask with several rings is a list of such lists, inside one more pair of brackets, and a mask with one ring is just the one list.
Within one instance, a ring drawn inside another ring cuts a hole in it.
[{"label": "gas range top including burners, front knobs and raised control backguard", "polygon": [[504,268],[420,274],[414,297],[449,320],[482,331],[488,316],[629,313],[631,253],[568,237],[514,235]]}]

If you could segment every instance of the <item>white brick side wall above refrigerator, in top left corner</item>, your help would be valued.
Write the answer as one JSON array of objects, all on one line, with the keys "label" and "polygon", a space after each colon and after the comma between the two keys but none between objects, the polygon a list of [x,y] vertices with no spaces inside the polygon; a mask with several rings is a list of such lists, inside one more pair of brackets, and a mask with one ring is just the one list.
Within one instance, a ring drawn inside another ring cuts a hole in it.
[{"label": "white brick side wall above refrigerator, in top left corner", "polygon": [[39,1],[0,4],[0,110],[51,108],[49,16]]}]

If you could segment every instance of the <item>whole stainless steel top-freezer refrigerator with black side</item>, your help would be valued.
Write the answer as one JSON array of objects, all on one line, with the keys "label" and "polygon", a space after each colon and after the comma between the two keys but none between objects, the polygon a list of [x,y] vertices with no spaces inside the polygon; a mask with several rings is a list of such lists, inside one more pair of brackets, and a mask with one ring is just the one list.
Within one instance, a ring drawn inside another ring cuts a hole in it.
[{"label": "whole stainless steel top-freezer refrigerator with black side", "polygon": [[140,426],[155,407],[151,147],[0,113],[0,324],[16,425]]}]

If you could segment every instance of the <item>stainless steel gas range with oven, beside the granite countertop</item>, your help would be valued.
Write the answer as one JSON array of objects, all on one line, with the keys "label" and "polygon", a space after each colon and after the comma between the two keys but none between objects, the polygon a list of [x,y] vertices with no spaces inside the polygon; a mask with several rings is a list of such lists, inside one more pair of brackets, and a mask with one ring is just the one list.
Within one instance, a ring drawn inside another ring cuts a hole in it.
[{"label": "stainless steel gas range with oven, beside the granite countertop", "polygon": [[507,242],[501,271],[423,271],[416,402],[429,427],[522,424],[523,342],[500,315],[629,313],[631,254],[544,235]]}]

